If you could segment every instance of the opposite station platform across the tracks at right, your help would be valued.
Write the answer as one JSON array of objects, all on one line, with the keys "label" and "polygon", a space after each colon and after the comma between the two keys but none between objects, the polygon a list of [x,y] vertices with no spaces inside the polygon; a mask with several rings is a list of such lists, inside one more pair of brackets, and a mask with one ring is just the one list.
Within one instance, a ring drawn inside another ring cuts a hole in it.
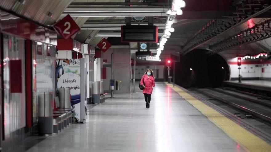
[{"label": "opposite station platform across the tracks at right", "polygon": [[238,80],[234,80],[234,81],[224,81],[223,84],[240,88],[271,92],[271,81],[269,80],[242,80],[241,83],[239,83]]}]

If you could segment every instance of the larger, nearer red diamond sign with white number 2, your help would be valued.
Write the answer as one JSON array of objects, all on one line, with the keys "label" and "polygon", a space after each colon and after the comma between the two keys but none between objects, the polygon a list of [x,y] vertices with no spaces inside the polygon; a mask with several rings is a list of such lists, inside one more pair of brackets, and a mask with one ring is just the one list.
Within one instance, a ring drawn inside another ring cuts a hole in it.
[{"label": "larger, nearer red diamond sign with white number 2", "polygon": [[69,14],[56,22],[53,27],[65,40],[71,38],[71,36],[80,30]]}]

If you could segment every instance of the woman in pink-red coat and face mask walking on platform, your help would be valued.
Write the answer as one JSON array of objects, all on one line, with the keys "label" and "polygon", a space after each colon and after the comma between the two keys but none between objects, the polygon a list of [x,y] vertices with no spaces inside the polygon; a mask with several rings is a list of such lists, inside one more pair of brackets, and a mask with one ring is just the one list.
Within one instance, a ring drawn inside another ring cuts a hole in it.
[{"label": "woman in pink-red coat and face mask walking on platform", "polygon": [[148,69],[144,73],[144,75],[142,76],[142,78],[140,80],[140,85],[142,85],[144,87],[143,94],[144,94],[145,101],[146,101],[146,108],[150,108],[152,89],[155,86],[152,69]]}]

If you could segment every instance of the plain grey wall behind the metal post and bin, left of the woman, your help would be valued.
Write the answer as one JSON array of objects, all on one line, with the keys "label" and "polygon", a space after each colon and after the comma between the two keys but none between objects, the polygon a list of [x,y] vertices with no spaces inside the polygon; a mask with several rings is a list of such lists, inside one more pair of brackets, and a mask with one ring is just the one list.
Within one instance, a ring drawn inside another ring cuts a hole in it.
[{"label": "plain grey wall behind the metal post and bin, left of the woman", "polygon": [[[107,63],[111,63],[111,53],[114,53],[114,79],[122,82],[121,90],[115,90],[115,93],[130,93],[130,46],[111,46],[110,49],[103,53],[103,60],[107,60]],[[111,68],[106,68],[106,79],[103,79],[104,90],[109,90],[110,79]]]}]

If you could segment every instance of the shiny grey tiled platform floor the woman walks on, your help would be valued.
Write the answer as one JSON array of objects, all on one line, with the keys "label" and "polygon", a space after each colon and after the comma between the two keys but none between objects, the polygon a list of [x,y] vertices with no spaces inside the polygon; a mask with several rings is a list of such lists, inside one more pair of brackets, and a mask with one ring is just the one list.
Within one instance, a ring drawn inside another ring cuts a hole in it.
[{"label": "shiny grey tiled platform floor the woman walks on", "polygon": [[115,94],[114,99],[106,99],[105,103],[91,108],[85,124],[71,124],[28,151],[246,150],[166,84],[156,83],[149,109],[145,107],[144,96],[139,89],[136,93]]}]

